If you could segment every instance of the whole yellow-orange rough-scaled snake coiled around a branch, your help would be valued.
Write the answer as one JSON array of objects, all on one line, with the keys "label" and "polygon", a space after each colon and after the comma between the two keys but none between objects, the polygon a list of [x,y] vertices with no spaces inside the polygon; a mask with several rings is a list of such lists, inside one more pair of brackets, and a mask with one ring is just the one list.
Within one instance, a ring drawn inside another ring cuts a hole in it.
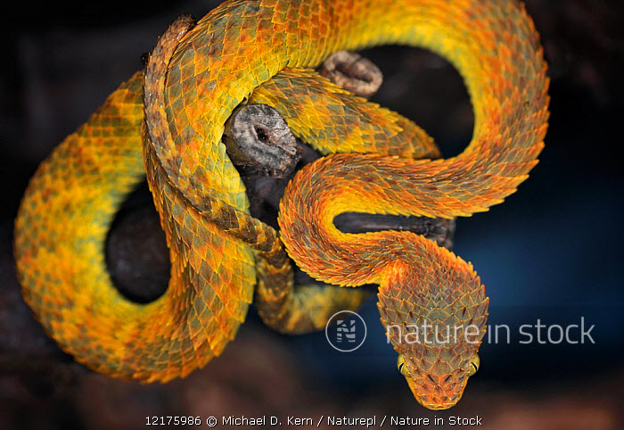
[{"label": "whole yellow-orange rough-scaled snake coiled around a branch", "polygon": [[[429,49],[459,71],[474,112],[463,153],[439,158],[411,120],[314,70],[336,51],[387,44]],[[302,333],[365,300],[349,286],[376,284],[415,400],[450,408],[479,367],[488,318],[472,264],[409,231],[344,233],[333,219],[466,217],[503,202],[544,147],[548,84],[538,32],[514,0],[232,0],[181,18],[31,178],[14,230],[23,296],[76,360],[149,383],[220,355],[251,302],[270,327]],[[275,107],[324,155],[287,186],[279,230],[250,216],[222,142],[244,103]],[[144,178],[171,269],[160,298],[136,303],[113,285],[104,247]],[[332,285],[295,285],[292,261]],[[458,336],[411,342],[427,324]]]}]

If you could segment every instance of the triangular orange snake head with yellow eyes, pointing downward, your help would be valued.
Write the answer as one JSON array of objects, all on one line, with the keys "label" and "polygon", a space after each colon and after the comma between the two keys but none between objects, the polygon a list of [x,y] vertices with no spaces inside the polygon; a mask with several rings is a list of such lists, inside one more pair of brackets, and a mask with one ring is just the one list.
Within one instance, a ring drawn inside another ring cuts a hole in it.
[{"label": "triangular orange snake head with yellow eyes, pointing downward", "polygon": [[445,249],[438,252],[453,258],[428,258],[417,270],[395,264],[380,287],[378,308],[399,354],[398,370],[416,400],[448,409],[479,368],[489,299],[472,265]]}]

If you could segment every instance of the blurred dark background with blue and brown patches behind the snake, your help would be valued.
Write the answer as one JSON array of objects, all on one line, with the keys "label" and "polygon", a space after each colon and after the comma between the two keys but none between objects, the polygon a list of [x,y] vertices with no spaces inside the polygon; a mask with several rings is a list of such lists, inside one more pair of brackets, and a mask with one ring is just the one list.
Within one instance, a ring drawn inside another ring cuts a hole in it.
[{"label": "blurred dark background with blue and brown patches behind the snake", "polygon": [[[365,345],[335,353],[324,334],[283,336],[255,311],[223,356],[185,380],[139,385],[73,363],[21,301],[12,220],[29,177],[181,13],[216,2],[27,5],[4,16],[0,63],[0,428],[136,428],[147,416],[482,417],[488,428],[622,428],[621,251],[624,6],[530,0],[552,79],[546,149],[504,204],[458,219],[455,251],[490,297],[489,324],[595,325],[595,343],[484,343],[481,369],[449,411],[416,404],[385,344],[374,302]],[[461,78],[422,50],[365,51],[384,84],[374,101],[461,152],[472,110]],[[535,331],[533,331],[535,333]],[[386,426],[389,426],[387,424]]]}]

